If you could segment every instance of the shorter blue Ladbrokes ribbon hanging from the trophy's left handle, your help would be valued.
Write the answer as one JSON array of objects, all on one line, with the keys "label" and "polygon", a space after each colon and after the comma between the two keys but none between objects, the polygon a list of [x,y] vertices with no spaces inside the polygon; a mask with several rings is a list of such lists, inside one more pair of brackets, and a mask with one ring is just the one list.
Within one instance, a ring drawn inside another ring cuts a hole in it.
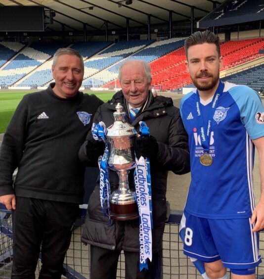
[{"label": "shorter blue Ladbrokes ribbon hanging from the trophy's left handle", "polygon": [[108,173],[108,146],[105,141],[105,132],[106,127],[105,124],[100,121],[99,124],[92,124],[91,127],[92,137],[98,141],[104,141],[105,143],[105,150],[102,156],[98,158],[98,165],[100,170],[100,202],[101,202],[101,209],[103,212],[103,216],[109,216],[109,208],[110,208],[110,183],[109,183],[109,173]]}]

